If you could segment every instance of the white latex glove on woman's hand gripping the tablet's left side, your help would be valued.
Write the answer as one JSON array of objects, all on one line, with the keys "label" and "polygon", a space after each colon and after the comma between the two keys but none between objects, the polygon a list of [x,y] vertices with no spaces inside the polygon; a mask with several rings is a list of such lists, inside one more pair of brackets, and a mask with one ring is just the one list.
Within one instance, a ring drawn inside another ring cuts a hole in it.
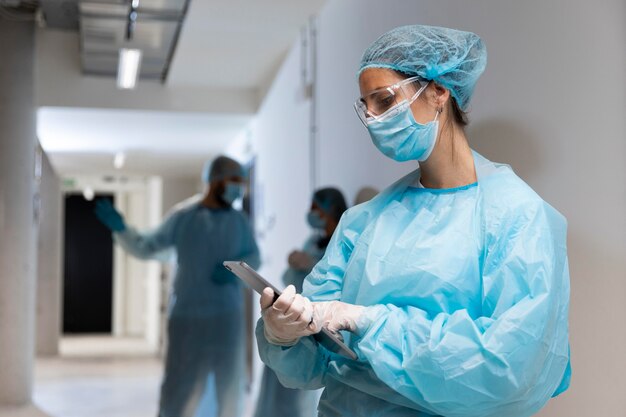
[{"label": "white latex glove on woman's hand gripping the tablet's left side", "polygon": [[261,316],[265,338],[274,345],[293,346],[301,337],[317,333],[311,329],[313,306],[308,298],[296,294],[293,285],[275,302],[274,291],[266,288],[261,295]]}]

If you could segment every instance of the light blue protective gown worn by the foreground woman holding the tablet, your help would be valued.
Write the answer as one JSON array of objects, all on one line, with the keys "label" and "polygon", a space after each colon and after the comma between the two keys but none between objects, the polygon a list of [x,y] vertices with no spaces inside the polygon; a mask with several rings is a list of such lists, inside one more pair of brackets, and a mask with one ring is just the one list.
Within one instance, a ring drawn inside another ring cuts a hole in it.
[{"label": "light blue protective gown worn by the foreground woman holding the tablet", "polygon": [[513,171],[474,153],[478,182],[415,187],[419,171],[349,210],[304,283],[367,306],[344,333],[358,360],[257,325],[289,387],[326,387],[319,415],[522,417],[569,386],[566,221]]}]

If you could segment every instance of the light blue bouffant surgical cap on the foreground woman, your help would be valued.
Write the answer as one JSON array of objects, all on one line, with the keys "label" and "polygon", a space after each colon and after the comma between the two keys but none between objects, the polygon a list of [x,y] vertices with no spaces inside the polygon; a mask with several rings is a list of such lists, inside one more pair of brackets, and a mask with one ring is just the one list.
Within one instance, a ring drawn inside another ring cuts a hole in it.
[{"label": "light blue bouffant surgical cap on the foreground woman", "polygon": [[367,68],[418,75],[450,90],[466,110],[486,65],[487,48],[478,35],[414,25],[395,28],[371,44],[361,58],[359,75]]}]

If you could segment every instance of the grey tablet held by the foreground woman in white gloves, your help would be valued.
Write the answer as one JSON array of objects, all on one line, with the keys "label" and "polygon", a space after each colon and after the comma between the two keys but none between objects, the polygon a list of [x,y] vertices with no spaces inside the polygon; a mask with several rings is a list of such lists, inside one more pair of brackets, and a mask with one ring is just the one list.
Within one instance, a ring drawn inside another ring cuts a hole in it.
[{"label": "grey tablet held by the foreground woman in white gloves", "polygon": [[[259,275],[258,272],[252,269],[245,262],[227,261],[224,262],[224,266],[259,294],[262,294],[265,288],[270,287],[274,290],[274,301],[276,301],[276,299],[280,296],[281,292],[276,287],[267,282],[267,280],[265,280],[261,275]],[[339,338],[332,334],[328,329],[322,328],[319,333],[311,336],[313,336],[319,344],[331,352],[338,353],[352,360],[357,359],[356,353],[354,353],[348,346],[346,346],[345,343],[339,340]]]}]

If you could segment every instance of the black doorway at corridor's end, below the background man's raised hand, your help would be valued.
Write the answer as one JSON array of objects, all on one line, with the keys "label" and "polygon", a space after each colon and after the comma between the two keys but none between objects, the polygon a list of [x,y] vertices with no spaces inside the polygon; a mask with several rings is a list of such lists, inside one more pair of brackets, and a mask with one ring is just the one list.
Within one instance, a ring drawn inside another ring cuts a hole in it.
[{"label": "black doorway at corridor's end, below the background man's raised hand", "polygon": [[111,333],[113,242],[94,214],[95,201],[65,197],[64,333]]}]

